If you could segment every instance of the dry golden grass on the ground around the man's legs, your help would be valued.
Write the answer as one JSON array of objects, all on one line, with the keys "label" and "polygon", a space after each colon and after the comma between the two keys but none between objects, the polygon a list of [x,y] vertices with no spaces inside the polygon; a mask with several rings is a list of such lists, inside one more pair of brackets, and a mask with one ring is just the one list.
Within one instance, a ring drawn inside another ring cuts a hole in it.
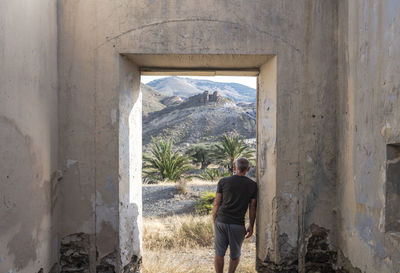
[{"label": "dry golden grass on the ground around the man's legs", "polygon": [[[143,273],[214,272],[213,242],[210,215],[144,219]],[[229,250],[225,257],[226,264],[228,257]],[[245,240],[236,272],[256,272],[254,242]]]}]

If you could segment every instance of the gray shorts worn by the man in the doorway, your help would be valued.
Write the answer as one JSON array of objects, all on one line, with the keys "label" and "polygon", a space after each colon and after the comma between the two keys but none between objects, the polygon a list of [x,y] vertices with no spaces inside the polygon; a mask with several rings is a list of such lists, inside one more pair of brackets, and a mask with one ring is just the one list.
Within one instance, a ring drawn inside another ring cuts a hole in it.
[{"label": "gray shorts worn by the man in the doorway", "polygon": [[243,225],[224,224],[215,222],[214,225],[214,249],[218,256],[225,256],[228,245],[231,259],[240,257],[246,228]]}]

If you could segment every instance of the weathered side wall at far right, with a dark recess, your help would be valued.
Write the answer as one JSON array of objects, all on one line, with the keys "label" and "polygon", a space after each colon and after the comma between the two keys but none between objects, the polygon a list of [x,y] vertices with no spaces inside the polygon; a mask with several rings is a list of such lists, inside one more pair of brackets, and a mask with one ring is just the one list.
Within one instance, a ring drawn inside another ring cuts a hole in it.
[{"label": "weathered side wall at far right, with a dark recess", "polygon": [[399,272],[385,203],[386,144],[400,142],[400,2],[341,1],[339,10],[339,246],[362,272]]}]

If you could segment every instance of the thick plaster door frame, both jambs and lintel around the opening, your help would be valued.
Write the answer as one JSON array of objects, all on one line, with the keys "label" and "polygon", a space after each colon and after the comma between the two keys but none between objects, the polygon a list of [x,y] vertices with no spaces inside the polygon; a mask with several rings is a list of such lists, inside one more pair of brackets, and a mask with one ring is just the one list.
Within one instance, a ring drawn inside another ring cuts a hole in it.
[{"label": "thick plaster door frame, both jambs and lintel around the opening", "polygon": [[[257,256],[273,235],[272,199],[276,166],[276,57],[271,55],[124,54],[120,64],[119,166],[121,260],[142,256],[141,75],[257,76],[256,177],[259,185]],[[129,193],[129,194],[126,194]],[[132,221],[133,220],[133,221]],[[130,222],[129,224],[127,224]],[[133,235],[133,236],[132,236]],[[133,239],[132,239],[133,238]]]}]

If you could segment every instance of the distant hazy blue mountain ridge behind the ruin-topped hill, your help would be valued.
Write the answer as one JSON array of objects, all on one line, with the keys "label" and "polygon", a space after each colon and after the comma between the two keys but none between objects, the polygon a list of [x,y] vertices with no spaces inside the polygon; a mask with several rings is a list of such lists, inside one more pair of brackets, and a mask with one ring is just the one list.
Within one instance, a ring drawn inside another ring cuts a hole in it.
[{"label": "distant hazy blue mountain ridge behind the ruin-topped hill", "polygon": [[181,77],[165,77],[151,81],[147,85],[164,96],[179,96],[182,99],[187,99],[204,91],[218,91],[221,96],[230,98],[234,102],[253,103],[256,101],[257,93],[256,89],[238,83],[223,83]]}]

